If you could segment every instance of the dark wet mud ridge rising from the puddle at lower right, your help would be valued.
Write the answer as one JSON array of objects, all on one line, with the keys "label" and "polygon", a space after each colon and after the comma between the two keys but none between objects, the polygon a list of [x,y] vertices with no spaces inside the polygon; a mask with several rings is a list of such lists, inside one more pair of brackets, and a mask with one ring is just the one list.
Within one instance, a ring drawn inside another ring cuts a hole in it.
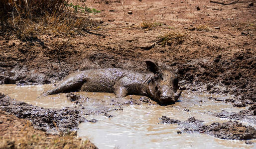
[{"label": "dark wet mud ridge rising from the puddle at lower right", "polygon": [[180,128],[184,128],[177,133],[205,133],[220,139],[228,140],[251,140],[256,139],[256,129],[252,126],[245,126],[237,121],[228,121],[225,123],[212,123],[211,125],[203,125],[203,121],[197,120],[194,117],[182,122],[175,119],[170,119],[166,116],[160,118],[161,123],[178,124]]}]

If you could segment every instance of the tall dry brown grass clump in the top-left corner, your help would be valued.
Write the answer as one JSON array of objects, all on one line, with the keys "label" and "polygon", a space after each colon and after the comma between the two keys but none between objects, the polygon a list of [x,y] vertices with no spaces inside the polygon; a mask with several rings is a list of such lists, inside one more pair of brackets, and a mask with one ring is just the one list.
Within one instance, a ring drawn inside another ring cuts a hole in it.
[{"label": "tall dry brown grass clump in the top-left corner", "polygon": [[[9,3],[8,3],[9,1]],[[0,36],[37,40],[41,35],[81,35],[96,23],[68,9],[68,0],[1,0]]]}]

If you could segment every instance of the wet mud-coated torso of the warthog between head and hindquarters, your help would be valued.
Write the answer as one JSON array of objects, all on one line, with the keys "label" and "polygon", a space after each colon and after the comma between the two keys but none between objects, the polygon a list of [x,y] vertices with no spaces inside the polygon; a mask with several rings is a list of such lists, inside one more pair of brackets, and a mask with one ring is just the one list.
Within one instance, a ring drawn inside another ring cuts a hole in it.
[{"label": "wet mud-coated torso of the warthog between head and hindquarters", "polygon": [[86,81],[81,91],[114,92],[116,86],[128,88],[128,92],[138,92],[153,74],[109,68],[83,71]]}]

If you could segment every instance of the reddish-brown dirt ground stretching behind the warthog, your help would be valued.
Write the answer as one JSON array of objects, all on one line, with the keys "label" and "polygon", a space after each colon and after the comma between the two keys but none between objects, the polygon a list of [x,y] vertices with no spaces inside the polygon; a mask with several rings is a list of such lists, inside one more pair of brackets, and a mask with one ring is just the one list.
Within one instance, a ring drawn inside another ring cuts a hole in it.
[{"label": "reddish-brown dirt ground stretching behind the warthog", "polygon": [[237,115],[256,115],[254,0],[227,5],[210,0],[87,0],[86,5],[101,12],[90,14],[98,24],[85,35],[45,34],[25,41],[1,34],[0,84],[54,83],[89,68],[144,72],[149,59],[179,74],[183,89],[231,94],[223,102],[251,107]]}]

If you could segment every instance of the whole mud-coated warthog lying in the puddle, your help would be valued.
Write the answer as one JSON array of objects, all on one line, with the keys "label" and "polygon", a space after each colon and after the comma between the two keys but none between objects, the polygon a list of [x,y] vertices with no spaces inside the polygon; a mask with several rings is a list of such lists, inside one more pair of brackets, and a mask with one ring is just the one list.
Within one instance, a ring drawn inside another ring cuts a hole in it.
[{"label": "whole mud-coated warthog lying in the puddle", "polygon": [[151,61],[145,62],[149,73],[108,68],[70,74],[44,95],[80,89],[90,92],[114,92],[116,97],[142,95],[162,104],[177,101],[181,94],[176,93],[179,88],[177,76],[169,70],[160,69]]}]

